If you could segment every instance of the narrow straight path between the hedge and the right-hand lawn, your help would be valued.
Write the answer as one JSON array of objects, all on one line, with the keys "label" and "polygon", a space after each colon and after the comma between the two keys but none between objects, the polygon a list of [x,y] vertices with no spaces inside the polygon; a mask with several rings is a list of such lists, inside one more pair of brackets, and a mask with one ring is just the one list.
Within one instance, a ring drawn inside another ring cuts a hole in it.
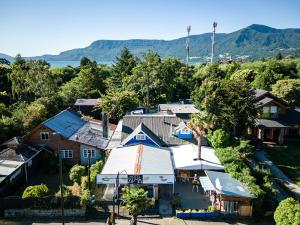
[{"label": "narrow straight path between the hedge and the right-hand lawn", "polygon": [[265,151],[257,151],[255,157],[262,162],[266,167],[268,167],[272,174],[280,179],[284,186],[286,186],[291,192],[293,192],[298,198],[300,198],[300,187],[297,186],[288,176],[286,176],[273,162],[268,159]]}]

